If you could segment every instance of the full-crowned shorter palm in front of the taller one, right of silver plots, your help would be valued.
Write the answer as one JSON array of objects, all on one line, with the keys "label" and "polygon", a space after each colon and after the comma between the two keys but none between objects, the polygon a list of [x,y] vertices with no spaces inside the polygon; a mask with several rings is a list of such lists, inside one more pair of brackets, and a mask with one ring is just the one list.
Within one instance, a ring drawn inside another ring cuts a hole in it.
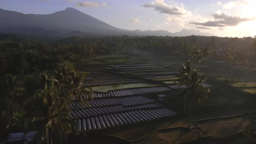
[{"label": "full-crowned shorter palm in front of the taller one, right of silver plots", "polygon": [[[207,100],[210,89],[202,85],[202,83],[207,79],[203,78],[203,75],[200,74],[197,70],[192,70],[190,73],[186,73],[185,77],[186,79],[184,80],[184,83],[187,83],[187,88],[184,89],[182,95],[186,95],[186,100],[190,105],[188,116],[190,120],[192,101],[196,101],[198,104],[200,104],[204,100]],[[188,126],[190,127],[190,122],[188,123]]]}]

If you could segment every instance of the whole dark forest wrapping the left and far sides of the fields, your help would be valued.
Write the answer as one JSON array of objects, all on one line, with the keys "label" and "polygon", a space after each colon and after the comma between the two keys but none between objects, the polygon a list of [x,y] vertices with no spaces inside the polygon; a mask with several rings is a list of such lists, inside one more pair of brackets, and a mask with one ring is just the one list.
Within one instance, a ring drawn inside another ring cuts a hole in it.
[{"label": "whole dark forest wrapping the left and far sides of the fields", "polygon": [[[54,39],[54,40],[53,40]],[[69,120],[74,100],[88,105],[82,95],[86,75],[75,71],[74,59],[119,52],[163,53],[186,56],[200,62],[221,57],[234,65],[255,65],[256,37],[213,36],[108,36],[26,37],[0,35],[0,127],[7,133],[39,131],[41,140],[54,131],[56,137],[75,129]],[[74,97],[75,95],[75,97]],[[56,138],[58,139],[58,138]]]}]

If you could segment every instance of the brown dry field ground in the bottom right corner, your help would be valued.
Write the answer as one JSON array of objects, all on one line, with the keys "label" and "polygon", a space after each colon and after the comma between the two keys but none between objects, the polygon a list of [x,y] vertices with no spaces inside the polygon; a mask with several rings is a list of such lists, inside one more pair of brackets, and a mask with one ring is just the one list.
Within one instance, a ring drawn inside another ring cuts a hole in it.
[{"label": "brown dry field ground in the bottom right corner", "polygon": [[[256,119],[256,114],[199,122],[200,128],[209,135],[206,135],[198,127],[191,128],[191,130],[187,130],[186,128],[167,128],[148,135],[148,137],[136,142],[136,144],[181,144],[196,141],[202,137],[207,137],[205,140],[207,144],[217,144],[220,141],[225,141],[225,143],[232,141],[232,144],[241,144],[249,140],[248,137],[243,135],[243,131],[248,128],[256,129],[254,119]],[[186,127],[187,125],[185,124],[184,126]]]}]

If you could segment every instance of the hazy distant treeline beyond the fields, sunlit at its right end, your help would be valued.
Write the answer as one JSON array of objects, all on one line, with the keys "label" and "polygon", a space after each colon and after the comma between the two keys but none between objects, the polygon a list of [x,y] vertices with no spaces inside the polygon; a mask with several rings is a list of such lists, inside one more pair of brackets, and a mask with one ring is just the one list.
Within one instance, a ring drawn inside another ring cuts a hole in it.
[{"label": "hazy distant treeline beyond the fields, sunlit at its right end", "polygon": [[[201,53],[205,57],[222,57],[232,64],[254,64],[256,61],[256,37],[216,37],[216,36],[108,36],[101,38],[70,37],[59,40],[61,43],[90,44],[92,53],[111,54],[117,52],[164,53],[170,56],[190,56]],[[82,51],[82,46],[78,46]],[[194,56],[195,57],[195,56]]]}]

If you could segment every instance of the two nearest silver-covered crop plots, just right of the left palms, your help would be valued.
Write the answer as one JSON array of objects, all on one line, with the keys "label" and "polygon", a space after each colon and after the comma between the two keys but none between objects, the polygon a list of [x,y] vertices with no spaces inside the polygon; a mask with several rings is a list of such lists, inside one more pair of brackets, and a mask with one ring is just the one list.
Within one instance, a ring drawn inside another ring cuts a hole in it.
[{"label": "two nearest silver-covered crop plots, just right of the left palms", "polygon": [[78,131],[111,128],[176,115],[176,112],[143,96],[95,98],[90,104],[89,108],[83,108],[79,102],[70,105],[70,118],[78,117]]}]

